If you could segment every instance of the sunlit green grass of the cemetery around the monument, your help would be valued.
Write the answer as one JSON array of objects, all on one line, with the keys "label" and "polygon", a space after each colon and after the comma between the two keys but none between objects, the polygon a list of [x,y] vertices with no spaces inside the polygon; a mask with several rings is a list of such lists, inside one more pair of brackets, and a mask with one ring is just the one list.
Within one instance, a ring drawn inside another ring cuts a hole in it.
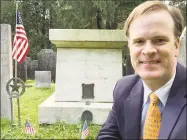
[{"label": "sunlit green grass of the cemetery around the monument", "polygon": [[[26,84],[34,84],[34,81],[28,80]],[[25,93],[20,97],[21,127],[11,127],[9,120],[1,119],[1,139],[80,139],[82,123],[73,125],[64,122],[51,125],[38,123],[38,106],[54,92],[54,89],[54,83],[48,89],[27,87]],[[17,100],[14,99],[14,123],[18,124],[16,107]],[[34,136],[24,133],[26,118],[36,131]],[[88,128],[87,139],[95,139],[101,126],[89,124]]]}]

